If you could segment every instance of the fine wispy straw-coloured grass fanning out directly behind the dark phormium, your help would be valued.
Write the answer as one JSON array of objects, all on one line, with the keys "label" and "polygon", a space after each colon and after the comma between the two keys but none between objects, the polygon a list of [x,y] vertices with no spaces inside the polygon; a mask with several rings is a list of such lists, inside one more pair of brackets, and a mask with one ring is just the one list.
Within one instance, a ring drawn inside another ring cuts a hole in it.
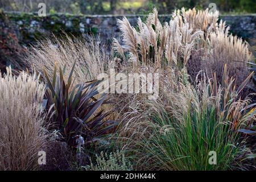
[{"label": "fine wispy straw-coloured grass fanning out directly behind the dark phormium", "polygon": [[[73,73],[76,77],[75,85],[96,79],[108,68],[110,60],[106,49],[93,37],[85,41],[68,35],[63,36],[63,39],[38,42],[31,47],[25,59],[36,71],[43,73],[43,69],[46,69],[50,76],[53,75],[55,63],[62,68],[65,65],[66,72],[69,73],[76,61],[77,68]],[[65,81],[67,77],[68,75],[64,75]]]}]

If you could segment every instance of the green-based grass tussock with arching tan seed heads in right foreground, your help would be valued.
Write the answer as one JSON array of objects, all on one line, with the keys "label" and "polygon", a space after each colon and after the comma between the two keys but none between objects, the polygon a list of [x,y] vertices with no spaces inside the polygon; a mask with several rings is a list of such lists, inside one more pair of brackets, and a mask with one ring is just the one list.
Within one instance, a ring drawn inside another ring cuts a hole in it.
[{"label": "green-based grass tussock with arching tan seed heads in right foreground", "polygon": [[[170,80],[167,82],[170,84]],[[240,129],[247,129],[256,113],[249,106],[250,99],[237,97],[240,89],[234,89],[233,80],[226,76],[225,82],[225,88],[217,89],[213,88],[216,82],[206,78],[197,89],[171,83],[175,86],[169,87],[162,99],[146,102],[149,110],[135,113],[137,117],[126,123],[121,137],[125,150],[133,154],[136,168],[243,168],[246,139],[241,138]],[[217,154],[216,165],[209,163],[210,151]]]}]

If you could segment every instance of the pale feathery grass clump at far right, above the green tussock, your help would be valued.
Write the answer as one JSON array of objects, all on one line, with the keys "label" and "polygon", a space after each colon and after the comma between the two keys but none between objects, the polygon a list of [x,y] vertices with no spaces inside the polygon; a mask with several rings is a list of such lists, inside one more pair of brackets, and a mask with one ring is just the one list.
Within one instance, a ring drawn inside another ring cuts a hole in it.
[{"label": "pale feathery grass clump at far right, above the green tussock", "polygon": [[217,80],[220,83],[226,64],[229,75],[236,78],[236,85],[239,86],[249,75],[246,62],[251,60],[251,53],[246,43],[241,38],[227,35],[222,31],[212,32],[208,42],[207,57],[205,61],[202,61],[201,69],[206,71],[209,76],[216,72]]}]

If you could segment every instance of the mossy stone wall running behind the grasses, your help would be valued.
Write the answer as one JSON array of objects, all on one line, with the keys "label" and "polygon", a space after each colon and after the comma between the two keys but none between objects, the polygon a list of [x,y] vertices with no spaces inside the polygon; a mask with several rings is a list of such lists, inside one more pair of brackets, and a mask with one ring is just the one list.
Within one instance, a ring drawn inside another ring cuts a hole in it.
[{"label": "mossy stone wall running behind the grasses", "polygon": [[[36,14],[6,13],[13,24],[19,41],[24,44],[34,43],[35,40],[49,37],[53,34],[60,35],[61,32],[81,35],[99,34],[101,40],[110,43],[113,36],[119,37],[120,31],[117,27],[117,15],[70,15],[55,14],[39,17]],[[145,15],[140,15],[142,20]],[[132,26],[137,23],[138,15],[127,15]],[[242,38],[256,38],[256,15],[227,15],[220,16],[231,26],[231,32]],[[161,21],[170,20],[170,15],[160,15]],[[0,19],[1,21],[1,19]],[[1,24],[1,23],[0,23]]]}]

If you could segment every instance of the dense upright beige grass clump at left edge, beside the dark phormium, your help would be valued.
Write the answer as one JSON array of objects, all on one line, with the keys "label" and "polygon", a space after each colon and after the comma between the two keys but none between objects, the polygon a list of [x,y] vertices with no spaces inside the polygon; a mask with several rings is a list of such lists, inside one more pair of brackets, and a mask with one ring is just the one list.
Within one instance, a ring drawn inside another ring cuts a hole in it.
[{"label": "dense upright beige grass clump at left edge, beside the dark phormium", "polygon": [[42,102],[45,92],[39,76],[11,69],[0,75],[0,169],[34,170],[38,152],[46,145]]}]

